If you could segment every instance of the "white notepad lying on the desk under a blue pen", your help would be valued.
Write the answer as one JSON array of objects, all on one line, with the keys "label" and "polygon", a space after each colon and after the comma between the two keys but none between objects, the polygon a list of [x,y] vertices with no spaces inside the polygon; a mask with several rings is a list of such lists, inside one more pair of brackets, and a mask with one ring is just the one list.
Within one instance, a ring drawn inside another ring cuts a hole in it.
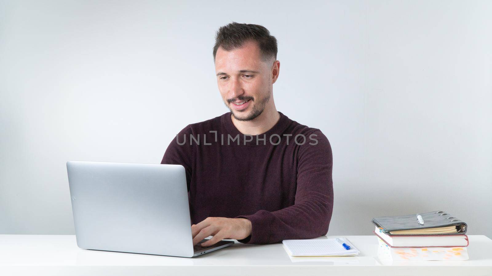
[{"label": "white notepad lying on the desk under a blue pen", "polygon": [[292,257],[356,256],[360,251],[348,239],[340,238],[350,249],[345,249],[336,239],[283,240],[285,251]]}]

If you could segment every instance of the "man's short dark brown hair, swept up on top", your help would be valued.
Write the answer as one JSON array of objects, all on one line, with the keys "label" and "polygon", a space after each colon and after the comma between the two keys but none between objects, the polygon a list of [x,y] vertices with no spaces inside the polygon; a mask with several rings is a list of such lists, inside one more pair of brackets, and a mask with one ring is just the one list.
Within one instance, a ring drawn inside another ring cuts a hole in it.
[{"label": "man's short dark brown hair, swept up on top", "polygon": [[215,34],[214,60],[219,47],[225,51],[231,51],[241,48],[249,40],[258,43],[264,61],[271,57],[275,57],[277,60],[277,38],[270,35],[267,28],[261,25],[236,22],[220,27]]}]

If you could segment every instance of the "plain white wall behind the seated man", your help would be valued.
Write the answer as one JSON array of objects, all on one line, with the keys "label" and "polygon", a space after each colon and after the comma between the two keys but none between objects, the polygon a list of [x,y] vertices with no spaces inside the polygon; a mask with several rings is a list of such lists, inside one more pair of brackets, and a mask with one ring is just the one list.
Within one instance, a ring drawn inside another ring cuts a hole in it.
[{"label": "plain white wall behind the seated man", "polygon": [[160,163],[228,110],[215,31],[278,39],[277,109],[334,156],[329,234],[445,210],[492,237],[491,1],[0,0],[0,234],[74,234],[67,160]]}]

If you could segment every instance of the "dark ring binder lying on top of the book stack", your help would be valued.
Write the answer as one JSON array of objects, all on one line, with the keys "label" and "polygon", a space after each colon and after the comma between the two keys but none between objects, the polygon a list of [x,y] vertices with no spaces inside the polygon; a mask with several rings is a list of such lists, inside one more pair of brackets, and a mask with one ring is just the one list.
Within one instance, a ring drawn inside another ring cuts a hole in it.
[{"label": "dark ring binder lying on top of the book stack", "polygon": [[[422,216],[420,224],[417,215]],[[467,224],[444,211],[373,218],[371,222],[388,235],[462,235]]]}]

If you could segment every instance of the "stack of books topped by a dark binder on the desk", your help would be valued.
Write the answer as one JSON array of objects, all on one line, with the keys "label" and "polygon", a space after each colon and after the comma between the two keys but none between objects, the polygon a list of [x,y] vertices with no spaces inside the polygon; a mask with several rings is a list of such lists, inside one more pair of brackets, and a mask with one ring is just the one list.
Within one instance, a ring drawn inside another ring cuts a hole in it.
[{"label": "stack of books topped by a dark binder on the desk", "polygon": [[383,262],[468,259],[467,224],[444,211],[377,217],[371,222]]}]

